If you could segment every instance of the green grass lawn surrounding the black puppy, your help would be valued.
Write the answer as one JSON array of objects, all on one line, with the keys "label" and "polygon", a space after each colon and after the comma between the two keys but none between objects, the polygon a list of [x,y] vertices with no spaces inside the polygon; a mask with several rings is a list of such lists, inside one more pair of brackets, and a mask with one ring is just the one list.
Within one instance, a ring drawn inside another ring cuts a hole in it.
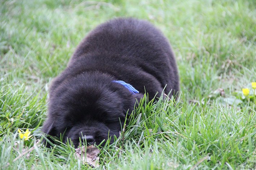
[{"label": "green grass lawn surrounding the black puppy", "polygon": [[[177,103],[145,98],[125,133],[101,149],[98,169],[236,169],[255,157],[255,97],[251,90],[248,102],[241,91],[256,81],[255,1],[0,4],[0,169],[86,169],[74,148],[35,143],[52,78],[90,30],[115,17],[146,19],[164,32],[177,58],[181,96]],[[29,142],[20,142],[18,128],[30,129]]]}]

